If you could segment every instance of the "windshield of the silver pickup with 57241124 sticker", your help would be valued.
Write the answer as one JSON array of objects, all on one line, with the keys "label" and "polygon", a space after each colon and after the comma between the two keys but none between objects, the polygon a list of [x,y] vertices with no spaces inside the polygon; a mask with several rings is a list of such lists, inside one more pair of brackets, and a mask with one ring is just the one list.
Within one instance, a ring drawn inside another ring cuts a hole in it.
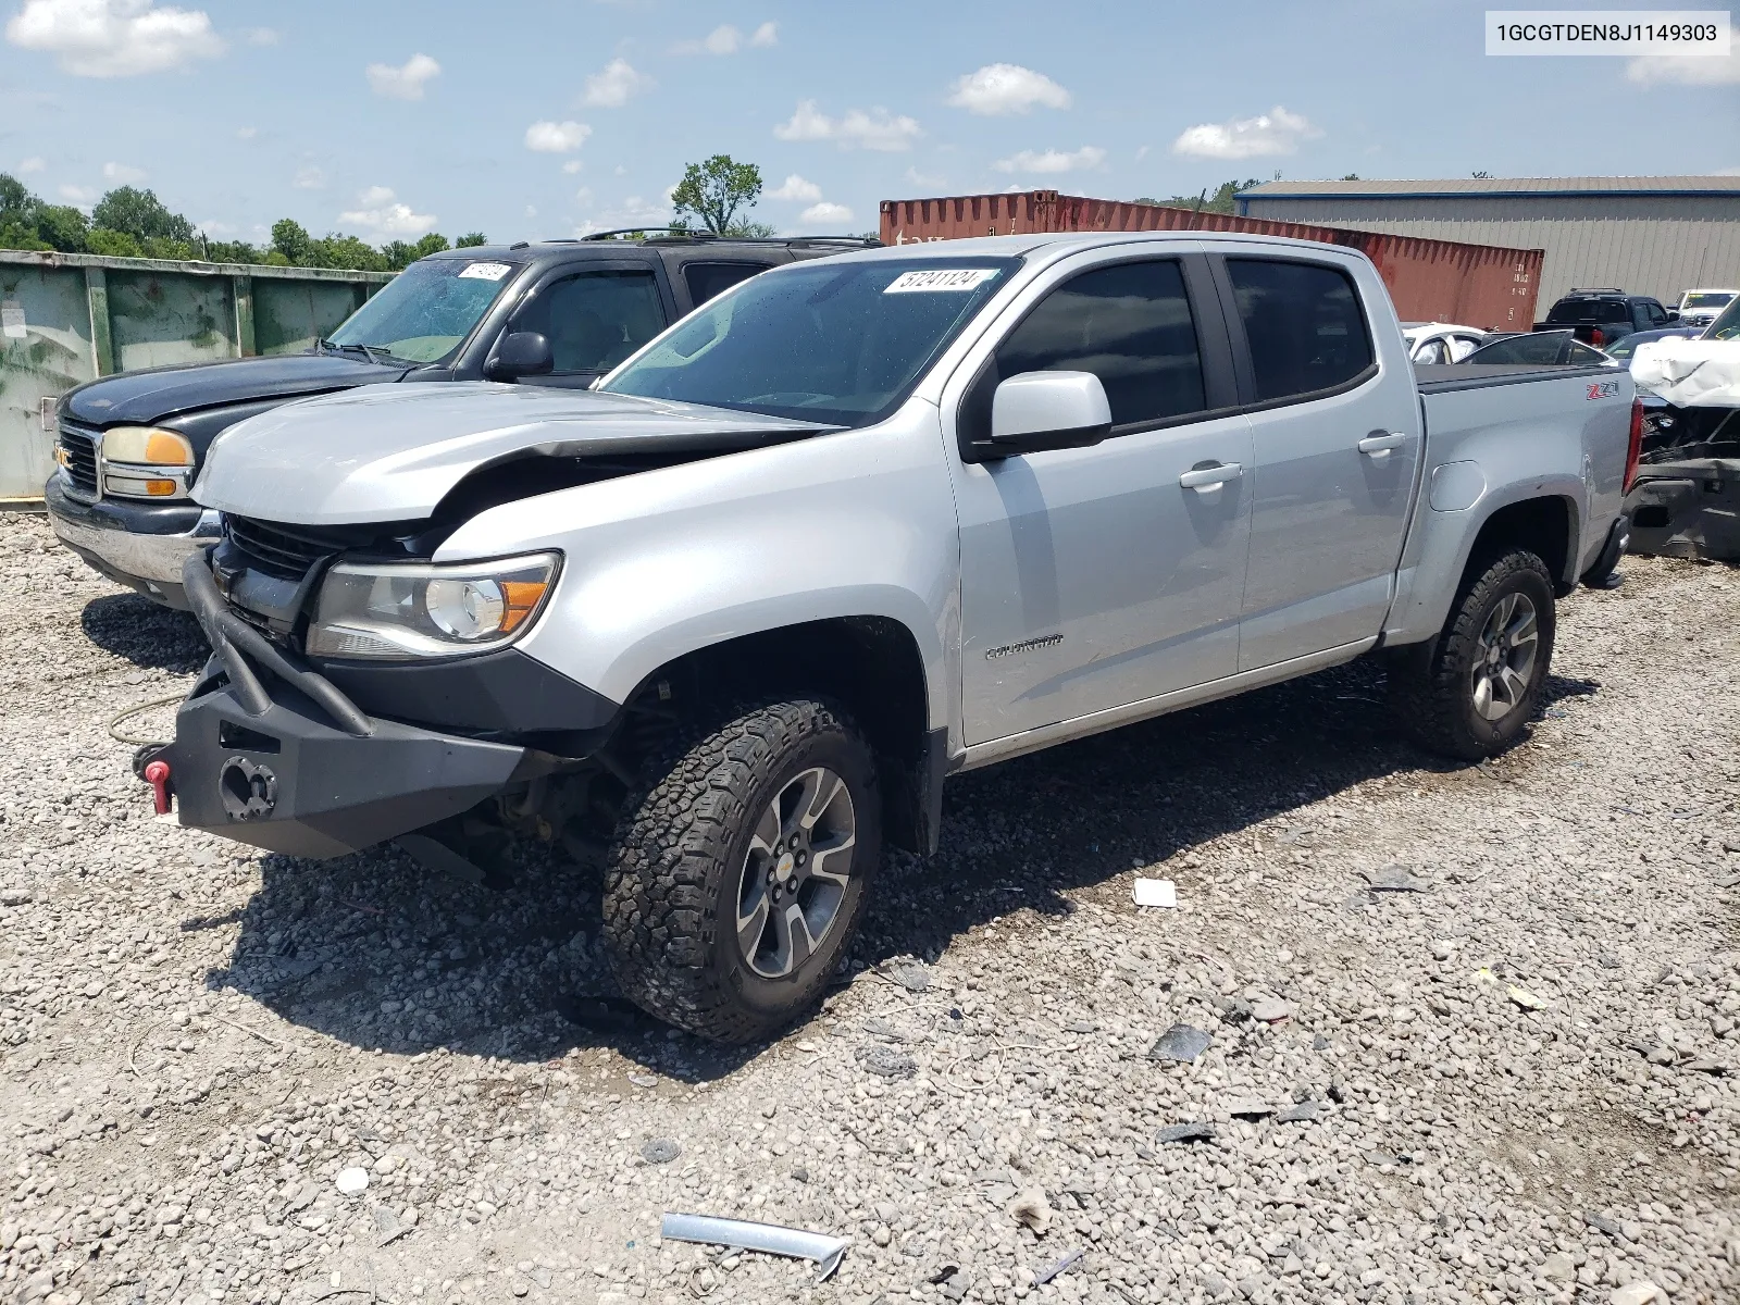
[{"label": "windshield of the silver pickup with 57241124 sticker", "polygon": [[599,388],[868,426],[1020,264],[858,259],[767,271],[691,313]]}]

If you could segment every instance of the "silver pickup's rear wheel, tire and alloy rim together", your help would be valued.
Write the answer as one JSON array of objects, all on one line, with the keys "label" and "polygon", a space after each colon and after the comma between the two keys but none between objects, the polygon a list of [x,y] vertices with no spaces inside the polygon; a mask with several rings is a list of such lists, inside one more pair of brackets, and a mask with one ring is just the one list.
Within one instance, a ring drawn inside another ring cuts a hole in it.
[{"label": "silver pickup's rear wheel, tire and alloy rim together", "polygon": [[1432,644],[1390,663],[1402,727],[1432,752],[1481,760],[1516,743],[1547,686],[1552,576],[1516,550],[1472,574]]}]

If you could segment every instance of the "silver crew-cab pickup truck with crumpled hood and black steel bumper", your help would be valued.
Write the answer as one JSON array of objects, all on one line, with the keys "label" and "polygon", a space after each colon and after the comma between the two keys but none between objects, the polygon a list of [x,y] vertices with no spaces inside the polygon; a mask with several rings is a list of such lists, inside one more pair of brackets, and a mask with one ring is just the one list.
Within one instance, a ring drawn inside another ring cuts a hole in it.
[{"label": "silver crew-cab pickup truck with crumpled hood and black steel bumper", "polygon": [[1364,256],[1028,235],[780,268],[586,393],[374,386],[230,428],[141,757],[298,856],[604,860],[626,995],[745,1041],[947,776],[1375,649],[1479,759],[1623,538],[1627,372],[1416,378]]}]

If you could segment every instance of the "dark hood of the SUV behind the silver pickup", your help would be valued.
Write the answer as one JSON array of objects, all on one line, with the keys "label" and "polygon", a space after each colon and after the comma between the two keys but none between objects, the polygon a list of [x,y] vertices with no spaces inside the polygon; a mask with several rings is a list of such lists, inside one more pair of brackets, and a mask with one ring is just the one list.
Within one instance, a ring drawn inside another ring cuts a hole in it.
[{"label": "dark hood of the SUV behind the silver pickup", "polygon": [[143,425],[177,412],[261,398],[296,398],[355,385],[397,381],[409,367],[388,367],[331,353],[223,358],[104,376],[70,390],[64,411],[92,426]]}]

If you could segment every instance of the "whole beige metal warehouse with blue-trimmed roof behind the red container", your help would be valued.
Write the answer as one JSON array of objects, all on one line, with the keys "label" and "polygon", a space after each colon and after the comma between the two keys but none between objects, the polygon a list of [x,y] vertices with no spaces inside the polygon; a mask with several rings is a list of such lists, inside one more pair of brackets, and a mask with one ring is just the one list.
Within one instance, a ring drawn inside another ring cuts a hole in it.
[{"label": "whole beige metal warehouse with blue-trimmed roof behind the red container", "polygon": [[1545,249],[1540,313],[1573,285],[1667,304],[1740,285],[1740,177],[1270,181],[1237,200],[1251,218]]}]

